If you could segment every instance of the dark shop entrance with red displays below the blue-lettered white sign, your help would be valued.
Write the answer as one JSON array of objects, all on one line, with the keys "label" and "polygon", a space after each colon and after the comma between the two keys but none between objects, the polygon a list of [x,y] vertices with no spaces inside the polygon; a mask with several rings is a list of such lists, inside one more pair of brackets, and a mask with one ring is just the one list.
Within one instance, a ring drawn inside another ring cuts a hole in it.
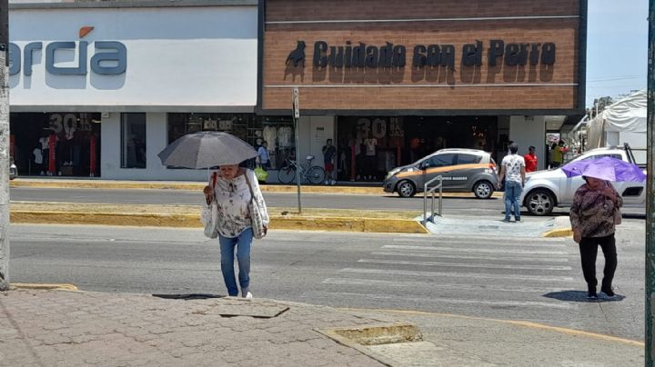
[{"label": "dark shop entrance with red displays below the blue-lettered white sign", "polygon": [[100,114],[12,113],[19,176],[100,176]]}]

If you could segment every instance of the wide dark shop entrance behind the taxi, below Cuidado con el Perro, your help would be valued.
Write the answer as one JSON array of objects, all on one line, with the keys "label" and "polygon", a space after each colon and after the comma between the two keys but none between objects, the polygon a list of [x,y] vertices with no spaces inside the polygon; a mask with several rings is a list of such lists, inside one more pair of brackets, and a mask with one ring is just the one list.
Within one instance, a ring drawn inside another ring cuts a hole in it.
[{"label": "wide dark shop entrance behind the taxi, below Cuidado con el Perro", "polygon": [[497,116],[339,116],[338,179],[379,182],[443,148],[495,152]]}]

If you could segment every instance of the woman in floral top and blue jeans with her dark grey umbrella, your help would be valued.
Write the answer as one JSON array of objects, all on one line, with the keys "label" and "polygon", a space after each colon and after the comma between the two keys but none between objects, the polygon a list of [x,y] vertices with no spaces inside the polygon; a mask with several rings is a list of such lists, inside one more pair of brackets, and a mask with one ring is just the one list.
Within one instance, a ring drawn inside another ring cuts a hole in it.
[{"label": "woman in floral top and blue jeans with her dark grey umbrella", "polygon": [[[241,296],[252,298],[250,293],[250,245],[253,237],[267,233],[268,213],[257,176],[239,163],[257,156],[252,145],[232,134],[198,132],[186,134],[157,154],[162,164],[173,167],[220,169],[210,175],[203,189],[205,203],[201,213],[203,223],[217,224],[221,249],[221,272],[230,296],[238,295],[234,272],[235,249],[239,267],[238,281]],[[216,201],[217,216],[212,205]],[[251,213],[251,209],[257,212]],[[255,233],[253,232],[255,229]],[[211,235],[214,237],[214,233]]]}]

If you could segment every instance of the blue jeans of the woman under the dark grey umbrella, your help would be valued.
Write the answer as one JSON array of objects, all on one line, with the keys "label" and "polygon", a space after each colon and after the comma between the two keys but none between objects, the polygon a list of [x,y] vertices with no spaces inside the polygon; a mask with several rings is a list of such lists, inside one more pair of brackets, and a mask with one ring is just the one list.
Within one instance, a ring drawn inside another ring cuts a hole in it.
[{"label": "blue jeans of the woman under the dark grey umbrella", "polygon": [[238,295],[237,279],[234,273],[234,250],[237,247],[237,262],[239,267],[239,285],[245,290],[250,285],[250,245],[252,244],[252,228],[247,228],[235,238],[218,235],[221,246],[221,272],[226,283],[227,294]]}]

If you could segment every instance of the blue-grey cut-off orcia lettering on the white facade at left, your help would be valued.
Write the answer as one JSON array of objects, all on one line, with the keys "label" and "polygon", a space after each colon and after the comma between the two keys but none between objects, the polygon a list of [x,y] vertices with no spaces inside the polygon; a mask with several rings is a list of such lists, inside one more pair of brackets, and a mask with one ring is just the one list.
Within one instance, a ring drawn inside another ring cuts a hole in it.
[{"label": "blue-grey cut-off orcia lettering on the white facade at left", "polygon": [[[88,42],[79,41],[57,41],[45,45],[45,70],[54,75],[86,75],[90,67],[91,71],[101,75],[124,74],[127,68],[126,45],[117,41],[96,41],[94,52],[90,63],[88,60]],[[9,44],[9,74],[19,74],[23,70],[26,76],[32,75],[32,65],[38,60],[34,58],[34,52],[43,50],[43,42],[31,42],[23,47],[21,51],[18,45]],[[57,52],[73,52],[77,54],[77,65],[57,66],[55,55]]]}]

